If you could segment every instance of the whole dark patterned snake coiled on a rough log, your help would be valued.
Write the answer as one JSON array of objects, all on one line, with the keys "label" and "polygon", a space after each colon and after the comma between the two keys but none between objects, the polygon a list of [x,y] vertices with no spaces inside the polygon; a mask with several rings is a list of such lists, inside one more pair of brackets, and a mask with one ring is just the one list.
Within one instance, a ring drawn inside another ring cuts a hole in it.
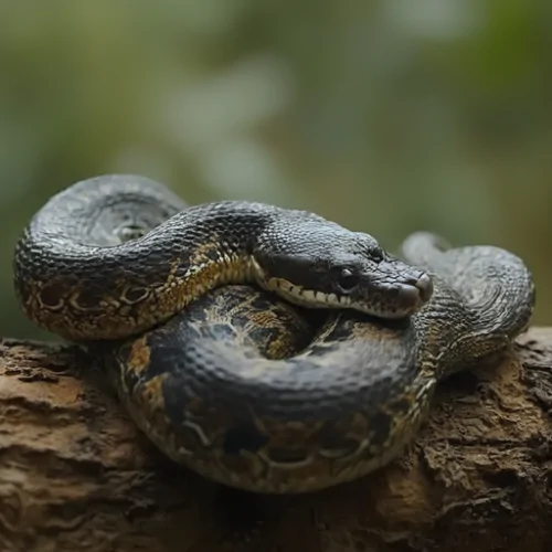
[{"label": "whole dark patterned snake coiled on a rough log", "polygon": [[437,384],[530,322],[524,262],[418,231],[370,234],[259,202],[189,205],[146,177],[57,192],[13,257],[26,317],[99,359],[168,458],[253,492],[300,493],[396,459]]}]

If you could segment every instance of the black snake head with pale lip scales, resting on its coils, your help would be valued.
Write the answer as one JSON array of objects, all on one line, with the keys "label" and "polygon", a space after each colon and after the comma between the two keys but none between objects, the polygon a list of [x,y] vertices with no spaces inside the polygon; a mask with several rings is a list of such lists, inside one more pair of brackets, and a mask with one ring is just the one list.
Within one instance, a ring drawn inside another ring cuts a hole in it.
[{"label": "black snake head with pale lip scales, resting on its coils", "polygon": [[297,240],[259,246],[253,268],[265,288],[296,305],[348,308],[380,318],[404,318],[433,295],[424,270],[386,253],[369,234],[318,225]]}]

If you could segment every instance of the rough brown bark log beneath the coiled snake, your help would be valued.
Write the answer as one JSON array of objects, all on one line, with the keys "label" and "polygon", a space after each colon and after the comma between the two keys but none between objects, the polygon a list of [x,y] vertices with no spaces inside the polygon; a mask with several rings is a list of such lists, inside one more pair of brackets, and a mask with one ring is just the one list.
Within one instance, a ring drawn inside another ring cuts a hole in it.
[{"label": "rough brown bark log beneath the coiled snake", "polygon": [[161,456],[75,349],[6,339],[0,551],[550,551],[551,412],[552,328],[533,328],[506,360],[444,382],[388,468],[252,496]]}]

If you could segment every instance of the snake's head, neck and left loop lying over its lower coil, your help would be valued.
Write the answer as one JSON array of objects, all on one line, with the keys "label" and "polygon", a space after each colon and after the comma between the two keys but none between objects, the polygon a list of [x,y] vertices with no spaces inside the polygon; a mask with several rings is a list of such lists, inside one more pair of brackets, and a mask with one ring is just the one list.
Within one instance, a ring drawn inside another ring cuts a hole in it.
[{"label": "snake's head, neck and left loop lying over its lower coil", "polygon": [[[132,233],[144,235],[127,241]],[[26,316],[70,340],[137,335],[224,284],[386,318],[412,314],[432,294],[423,270],[368,234],[263,203],[187,209],[161,184],[129,176],[53,197],[18,242],[14,283]]]}]

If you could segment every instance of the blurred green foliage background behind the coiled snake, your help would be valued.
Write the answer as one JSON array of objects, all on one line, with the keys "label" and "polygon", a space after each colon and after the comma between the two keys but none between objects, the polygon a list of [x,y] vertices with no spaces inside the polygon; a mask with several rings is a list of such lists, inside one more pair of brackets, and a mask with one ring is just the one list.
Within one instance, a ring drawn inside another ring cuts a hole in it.
[{"label": "blurred green foliage background behind the coiled snake", "polygon": [[0,1],[0,333],[15,240],[105,172],[521,255],[552,322],[552,3]]}]

